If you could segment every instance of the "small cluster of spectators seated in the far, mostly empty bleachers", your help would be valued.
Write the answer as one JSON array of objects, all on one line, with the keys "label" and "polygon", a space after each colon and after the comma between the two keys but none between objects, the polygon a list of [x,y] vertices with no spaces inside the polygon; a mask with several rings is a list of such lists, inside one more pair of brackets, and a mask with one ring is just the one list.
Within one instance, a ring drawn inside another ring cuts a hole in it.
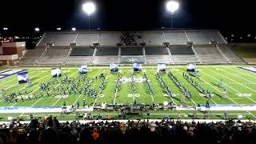
[{"label": "small cluster of spectators seated in the far, mostly empty bleachers", "polygon": [[142,38],[140,32],[122,32],[121,42],[126,45],[138,45],[138,39]]}]

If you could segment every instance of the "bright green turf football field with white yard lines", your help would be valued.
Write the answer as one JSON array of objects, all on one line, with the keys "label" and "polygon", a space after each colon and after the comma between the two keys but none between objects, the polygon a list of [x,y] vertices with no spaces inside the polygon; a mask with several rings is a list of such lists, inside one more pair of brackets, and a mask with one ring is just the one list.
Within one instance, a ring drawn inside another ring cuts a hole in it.
[{"label": "bright green turf football field with white yard lines", "polygon": [[[106,103],[126,103],[126,102],[137,102],[142,103],[162,103],[162,102],[171,102],[174,101],[177,105],[190,105],[194,106],[197,104],[206,104],[206,97],[201,94],[194,86],[190,84],[190,82],[186,81],[183,78],[182,73],[186,71],[186,66],[171,66],[172,73],[175,77],[178,78],[182,85],[186,86],[188,90],[192,92],[192,98],[186,98],[186,103],[181,103],[182,100],[182,91],[174,84],[171,78],[168,77],[167,74],[162,73],[163,80],[170,86],[170,90],[174,95],[173,98],[166,97],[166,90],[162,88],[160,83],[158,82],[158,78],[155,76],[157,67],[156,66],[145,66],[142,69],[142,72],[135,72],[135,78],[142,78],[143,71],[147,74],[150,84],[154,90],[154,94],[150,94],[148,87],[145,82],[135,82],[135,94],[132,94],[132,90],[130,87],[130,82],[120,83],[120,88],[118,91],[115,91],[115,81],[118,78],[118,74],[110,73],[109,67],[90,67],[87,78],[90,78],[90,87],[97,90],[97,97],[90,98],[87,94],[67,94],[66,96],[56,94],[55,97],[52,96],[55,92],[53,92],[53,88],[57,89],[57,87],[62,86],[61,83],[55,83],[54,85],[50,85],[50,96],[47,97],[46,93],[44,97],[41,98],[41,92],[39,90],[39,84],[43,82],[51,81],[50,67],[18,67],[17,69],[28,69],[29,77],[32,82],[31,87],[27,88],[27,92],[31,97],[31,100],[27,98],[24,99],[24,102],[21,102],[21,99],[18,99],[18,102],[6,102],[2,99],[2,94],[0,95],[0,106],[62,106],[64,101],[66,101],[67,106],[74,105],[76,106],[76,102],[79,100],[80,106],[82,106],[82,100],[86,98],[86,104],[88,106],[98,106],[101,105],[102,102]],[[122,74],[123,78],[130,78],[131,70],[127,66],[127,68],[122,67],[119,70]],[[205,89],[210,90],[213,93],[213,96],[210,100],[210,104],[255,104],[256,103],[256,73],[238,69],[238,66],[229,66],[229,65],[213,65],[213,66],[197,66],[197,70],[200,72],[200,78],[198,78],[197,82]],[[12,68],[13,69],[13,68]],[[15,68],[16,69],[16,68]],[[170,70],[170,66],[167,67],[167,70]],[[106,87],[103,90],[99,90],[99,85],[102,82],[100,78],[95,79],[94,77],[98,74],[104,73],[106,75]],[[62,67],[62,75],[68,75],[70,78],[74,78],[78,81],[78,68],[77,67]],[[91,81],[91,78],[94,78]],[[222,98],[222,88],[218,88],[218,82],[220,79],[224,80],[223,87],[227,89],[227,98]],[[194,78],[195,80],[196,78]],[[81,82],[78,84],[79,86],[85,86],[86,82]],[[11,92],[16,92],[18,90],[24,94],[24,90],[27,84],[18,84],[17,75],[13,75],[7,78],[0,79],[0,89],[6,90],[6,94],[10,94]],[[65,87],[66,85],[63,84]],[[28,115],[25,114],[14,114],[14,116],[22,116]],[[118,112],[116,112],[118,114]],[[191,114],[191,111],[163,111],[163,112],[152,112],[152,115],[162,116],[166,114]],[[197,112],[198,113],[198,112]],[[233,111],[235,114],[245,114],[249,115],[248,118],[255,118],[254,111]],[[43,113],[42,113],[43,114]],[[97,114],[97,113],[96,113]],[[214,111],[212,114],[221,115],[223,111]],[[234,115],[235,115],[234,114]],[[40,115],[40,114],[39,114]],[[200,115],[200,114],[199,114]],[[0,114],[0,117],[7,117],[8,114]],[[214,116],[214,118],[215,118]],[[3,119],[5,119],[3,118]],[[72,117],[73,118],[73,117]],[[218,118],[218,116],[216,116]]]}]

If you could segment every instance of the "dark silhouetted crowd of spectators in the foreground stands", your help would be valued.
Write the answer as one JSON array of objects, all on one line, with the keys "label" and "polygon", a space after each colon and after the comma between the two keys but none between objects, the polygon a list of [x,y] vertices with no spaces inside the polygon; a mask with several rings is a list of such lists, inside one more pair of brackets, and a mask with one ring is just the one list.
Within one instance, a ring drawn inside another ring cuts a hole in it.
[{"label": "dark silhouetted crowd of spectators in the foreground stands", "polygon": [[256,143],[253,122],[148,121],[58,122],[46,116],[0,125],[0,143]]}]

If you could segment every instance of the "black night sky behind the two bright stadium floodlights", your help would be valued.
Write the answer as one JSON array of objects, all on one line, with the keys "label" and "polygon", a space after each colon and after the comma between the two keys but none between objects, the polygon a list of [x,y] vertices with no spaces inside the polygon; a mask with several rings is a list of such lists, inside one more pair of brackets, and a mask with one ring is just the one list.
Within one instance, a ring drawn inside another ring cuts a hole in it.
[{"label": "black night sky behind the two bright stadium floodlights", "polygon": [[[2,0],[0,27],[11,30],[88,29],[82,11],[84,0]],[[97,12],[91,16],[92,29],[152,30],[170,27],[166,0],[93,0]],[[255,31],[253,1],[179,0],[174,28]]]}]

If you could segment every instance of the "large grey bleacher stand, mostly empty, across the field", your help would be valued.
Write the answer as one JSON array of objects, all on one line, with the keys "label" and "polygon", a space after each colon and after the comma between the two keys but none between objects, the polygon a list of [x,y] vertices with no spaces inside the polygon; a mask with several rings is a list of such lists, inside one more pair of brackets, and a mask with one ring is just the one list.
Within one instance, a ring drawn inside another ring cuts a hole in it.
[{"label": "large grey bleacher stand, mostly empty, across the field", "polygon": [[[164,46],[165,42],[170,43],[170,48]],[[192,47],[188,46],[187,42],[192,42]],[[72,48],[72,45],[70,49],[70,43],[75,43],[76,46]],[[46,49],[47,44],[52,46]],[[140,44],[145,45],[140,46]],[[34,50],[27,50],[20,64],[241,63],[243,61],[226,44],[218,30],[76,31],[46,32]]]}]

